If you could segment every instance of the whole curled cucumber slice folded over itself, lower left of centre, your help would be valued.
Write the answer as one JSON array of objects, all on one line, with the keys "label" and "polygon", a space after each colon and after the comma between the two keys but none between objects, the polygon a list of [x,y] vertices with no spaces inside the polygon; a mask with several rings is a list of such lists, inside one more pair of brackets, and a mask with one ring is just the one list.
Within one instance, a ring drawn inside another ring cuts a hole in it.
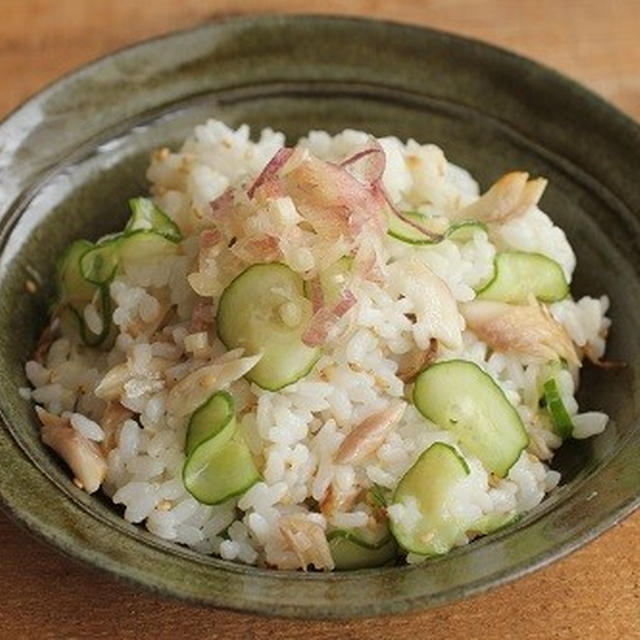
[{"label": "whole curled cucumber slice folded over itself, lower left of centre", "polygon": [[182,480],[199,502],[219,504],[244,493],[260,474],[236,429],[232,396],[217,391],[189,420]]}]

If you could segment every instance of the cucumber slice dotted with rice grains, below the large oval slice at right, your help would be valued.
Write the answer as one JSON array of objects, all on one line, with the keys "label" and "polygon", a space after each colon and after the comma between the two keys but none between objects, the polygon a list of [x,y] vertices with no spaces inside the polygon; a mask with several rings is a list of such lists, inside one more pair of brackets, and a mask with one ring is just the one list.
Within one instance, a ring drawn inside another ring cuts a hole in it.
[{"label": "cucumber slice dotted with rice grains, below the large oval slice at right", "polygon": [[[468,529],[453,509],[467,475],[467,463],[448,444],[436,442],[422,453],[398,483],[389,509],[391,532],[403,549],[432,556],[455,545]],[[394,505],[404,507],[400,515]]]}]

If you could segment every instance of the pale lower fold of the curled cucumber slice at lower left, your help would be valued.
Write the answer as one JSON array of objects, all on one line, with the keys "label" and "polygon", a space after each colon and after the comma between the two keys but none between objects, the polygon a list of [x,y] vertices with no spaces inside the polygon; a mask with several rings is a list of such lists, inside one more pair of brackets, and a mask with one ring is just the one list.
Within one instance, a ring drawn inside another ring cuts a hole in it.
[{"label": "pale lower fold of the curled cucumber slice at lower left", "polygon": [[182,469],[187,491],[203,504],[220,504],[244,493],[260,479],[251,451],[236,431],[209,438],[191,453]]}]

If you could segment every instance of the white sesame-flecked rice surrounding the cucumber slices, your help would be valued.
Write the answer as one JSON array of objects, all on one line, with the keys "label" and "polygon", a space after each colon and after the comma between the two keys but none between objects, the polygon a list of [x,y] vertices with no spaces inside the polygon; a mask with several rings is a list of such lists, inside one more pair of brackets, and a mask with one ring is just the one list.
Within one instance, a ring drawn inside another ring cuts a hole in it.
[{"label": "white sesame-flecked rice surrounding the cucumber slices", "polygon": [[[370,142],[370,136],[359,131],[336,136],[312,131],[298,147],[339,163]],[[378,143],[385,157],[384,190],[397,209],[455,217],[456,211],[478,202],[477,183],[449,163],[438,147],[393,137]],[[78,332],[58,329],[46,352],[41,350],[40,357],[27,363],[33,389],[21,393],[64,420],[80,439],[96,443],[106,463],[101,488],[124,507],[128,521],[226,560],[306,568],[291,537],[283,535],[283,518],[299,516],[323,532],[377,526],[380,511],[368,490],[393,491],[434,442],[456,447],[469,466],[456,509],[470,522],[482,514],[534,508],[560,481],[548,462],[562,441],[542,419],[539,406],[538,377],[545,361],[516,350],[492,349],[465,328],[460,305],[472,301],[478,285],[491,274],[496,251],[548,256],[570,281],[575,256],[562,230],[531,203],[512,219],[477,227],[463,241],[413,246],[384,236],[375,246],[363,242],[354,249],[341,237],[314,233],[292,198],[275,197],[241,221],[243,237],[237,242],[216,244],[212,233],[223,223],[215,222],[219,219],[210,203],[220,204],[229,188],[246,190],[284,145],[283,134],[269,129],[253,142],[247,126],[232,130],[209,121],[195,128],[180,151],[155,152],[147,173],[151,194],[180,228],[180,252],[125,269],[113,279],[116,334],[109,350],[88,348]],[[265,237],[271,238],[268,246],[255,241]],[[171,391],[194,372],[229,357],[214,324],[221,293],[243,268],[265,261],[265,256],[309,280],[348,252],[355,255],[356,265],[371,260],[367,252],[373,252],[373,270],[378,272],[369,277],[362,269],[354,278],[355,305],[331,327],[311,372],[277,392],[243,377],[226,385],[261,479],[223,504],[199,503],[185,489],[181,472],[188,417],[201,396]],[[444,283],[440,290],[445,293],[438,295],[455,302],[453,314],[433,312],[433,291],[416,280],[421,265]],[[579,356],[597,360],[605,349],[607,307],[604,296],[569,297],[549,305],[549,311]],[[93,303],[85,308],[84,321],[100,331]],[[411,403],[375,451],[356,464],[336,463],[340,444],[359,423],[392,400],[405,398],[401,369],[407,358],[428,350],[434,341],[438,361],[476,363],[522,418],[530,445],[508,475],[492,476],[451,432],[426,420]],[[557,380],[574,437],[601,432],[607,423],[604,414],[579,413],[574,399],[578,368],[563,369]],[[412,517],[401,513],[399,505],[389,508],[399,519]],[[466,544],[471,535],[461,535],[456,544]],[[410,562],[421,559],[408,557]],[[318,565],[332,568],[330,562]]]}]

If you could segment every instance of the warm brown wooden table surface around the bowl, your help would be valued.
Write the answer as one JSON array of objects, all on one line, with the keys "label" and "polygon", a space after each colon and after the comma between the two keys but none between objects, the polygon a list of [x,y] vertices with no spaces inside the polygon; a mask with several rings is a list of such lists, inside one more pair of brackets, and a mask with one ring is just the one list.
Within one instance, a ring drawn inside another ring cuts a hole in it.
[{"label": "warm brown wooden table surface around the bowl", "polygon": [[[640,119],[639,0],[2,0],[0,116],[60,74],[136,40],[239,11],[285,10],[471,35],[564,71]],[[76,565],[0,514],[0,637],[640,638],[639,543],[640,512],[490,593],[430,612],[332,623],[161,599]]]}]

